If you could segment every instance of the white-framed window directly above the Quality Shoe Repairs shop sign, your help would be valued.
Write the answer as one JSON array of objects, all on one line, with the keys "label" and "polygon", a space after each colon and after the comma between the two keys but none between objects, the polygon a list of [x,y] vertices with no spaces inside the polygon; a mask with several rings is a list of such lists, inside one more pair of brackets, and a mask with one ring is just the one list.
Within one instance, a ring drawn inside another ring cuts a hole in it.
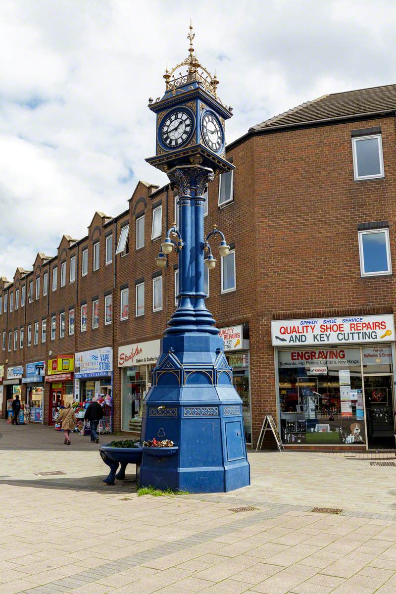
[{"label": "white-framed window directly above the Quality Shoe Repairs shop sign", "polygon": [[391,274],[389,229],[359,231],[359,254],[362,276]]}]

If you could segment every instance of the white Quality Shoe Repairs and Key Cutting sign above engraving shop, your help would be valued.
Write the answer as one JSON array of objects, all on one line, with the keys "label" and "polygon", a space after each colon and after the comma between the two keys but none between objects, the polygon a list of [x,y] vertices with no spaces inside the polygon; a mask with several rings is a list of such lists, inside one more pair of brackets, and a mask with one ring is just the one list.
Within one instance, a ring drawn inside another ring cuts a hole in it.
[{"label": "white Quality Shoe Repairs and Key Cutting sign above engraving shop", "polygon": [[393,315],[357,315],[271,322],[273,346],[335,345],[395,340]]}]

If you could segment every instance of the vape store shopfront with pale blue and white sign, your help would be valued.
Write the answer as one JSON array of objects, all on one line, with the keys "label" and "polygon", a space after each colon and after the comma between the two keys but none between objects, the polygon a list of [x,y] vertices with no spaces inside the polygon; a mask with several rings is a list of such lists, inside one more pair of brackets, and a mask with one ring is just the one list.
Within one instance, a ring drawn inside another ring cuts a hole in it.
[{"label": "vape store shopfront with pale blue and white sign", "polygon": [[74,400],[83,403],[94,396],[103,406],[102,424],[110,433],[113,407],[113,349],[110,346],[84,350],[74,356]]}]

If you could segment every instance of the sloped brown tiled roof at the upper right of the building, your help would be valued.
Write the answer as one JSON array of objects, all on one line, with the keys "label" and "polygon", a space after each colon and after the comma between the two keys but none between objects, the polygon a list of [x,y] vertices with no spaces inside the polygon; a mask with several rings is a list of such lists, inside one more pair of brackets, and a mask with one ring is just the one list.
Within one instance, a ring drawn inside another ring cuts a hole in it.
[{"label": "sloped brown tiled roof at the upper right of the building", "polygon": [[396,84],[331,93],[256,124],[249,132],[396,110]]}]

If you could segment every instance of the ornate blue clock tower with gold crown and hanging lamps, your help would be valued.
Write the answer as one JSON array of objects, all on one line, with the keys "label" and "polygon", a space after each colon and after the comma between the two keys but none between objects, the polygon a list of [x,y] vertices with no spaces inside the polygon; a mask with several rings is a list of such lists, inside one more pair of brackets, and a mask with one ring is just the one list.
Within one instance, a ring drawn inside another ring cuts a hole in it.
[{"label": "ornate blue clock tower with gold crown and hanging lamps", "polygon": [[174,223],[168,230],[157,264],[166,267],[166,254],[178,253],[179,304],[161,340],[141,434],[147,441],[172,440],[174,447],[144,448],[140,484],[220,492],[250,483],[242,400],[204,292],[204,256],[208,268],[216,266],[208,240],[220,238],[221,256],[229,251],[216,226],[204,234],[204,192],[214,175],[233,169],[225,158],[224,135],[232,109],[217,96],[216,74],[194,55],[189,29],[188,58],[166,69],[164,96],[149,100],[157,115],[157,150],[147,161],[166,172],[180,209],[179,228]]}]

